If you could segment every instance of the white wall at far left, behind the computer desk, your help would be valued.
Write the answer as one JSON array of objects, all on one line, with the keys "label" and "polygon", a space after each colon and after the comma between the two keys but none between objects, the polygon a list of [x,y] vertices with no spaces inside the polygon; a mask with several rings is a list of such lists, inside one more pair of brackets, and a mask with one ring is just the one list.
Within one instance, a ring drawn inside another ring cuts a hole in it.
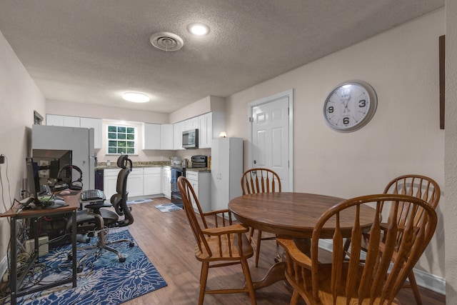
[{"label": "white wall at far left, behind the computer desk", "polygon": [[[0,32],[0,154],[6,156],[5,164],[0,164],[0,214],[19,199],[25,159],[31,156],[34,110],[44,115],[44,96]],[[8,243],[9,222],[0,218],[0,260],[6,257]]]}]

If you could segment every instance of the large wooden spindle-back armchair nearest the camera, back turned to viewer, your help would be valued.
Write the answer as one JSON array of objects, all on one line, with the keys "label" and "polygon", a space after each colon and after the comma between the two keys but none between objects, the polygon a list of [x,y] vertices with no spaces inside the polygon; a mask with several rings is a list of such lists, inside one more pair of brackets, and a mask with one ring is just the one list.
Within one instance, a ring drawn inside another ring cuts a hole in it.
[{"label": "large wooden spindle-back armchair nearest the camera, back turned to viewer", "polygon": [[[370,229],[366,258],[363,254],[360,206],[376,208]],[[402,206],[410,208],[404,215]],[[389,206],[388,226],[382,225],[381,209]],[[353,227],[341,227],[340,219],[351,211]],[[421,220],[415,219],[421,214]],[[400,218],[403,225],[398,224]],[[402,194],[378,194],[342,201],[328,209],[313,230],[311,257],[303,254],[292,239],[278,238],[286,250],[286,279],[293,287],[291,304],[300,296],[306,304],[398,304],[396,294],[426,249],[436,229],[436,211],[426,201]],[[329,229],[335,230],[331,232]],[[398,241],[398,232],[403,238]],[[351,236],[351,256],[345,259],[343,236]],[[333,239],[331,263],[320,263],[318,241]],[[391,264],[392,263],[392,264]],[[390,268],[389,268],[390,267]]]}]

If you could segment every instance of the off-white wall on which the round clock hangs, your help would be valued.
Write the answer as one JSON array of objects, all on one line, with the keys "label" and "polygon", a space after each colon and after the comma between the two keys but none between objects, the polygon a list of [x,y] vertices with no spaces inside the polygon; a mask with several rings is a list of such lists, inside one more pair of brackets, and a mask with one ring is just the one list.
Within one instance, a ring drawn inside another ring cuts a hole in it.
[{"label": "off-white wall on which the round clock hangs", "polygon": [[[438,91],[444,16],[441,9],[229,96],[227,134],[249,139],[247,104],[293,89],[294,191],[343,198],[381,193],[401,174],[430,176],[444,188]],[[323,120],[323,101],[333,87],[351,79],[373,86],[378,109],[363,129],[341,134]],[[245,169],[247,162],[245,147]],[[445,269],[443,207],[444,197],[436,237],[417,266],[440,277]]]}]

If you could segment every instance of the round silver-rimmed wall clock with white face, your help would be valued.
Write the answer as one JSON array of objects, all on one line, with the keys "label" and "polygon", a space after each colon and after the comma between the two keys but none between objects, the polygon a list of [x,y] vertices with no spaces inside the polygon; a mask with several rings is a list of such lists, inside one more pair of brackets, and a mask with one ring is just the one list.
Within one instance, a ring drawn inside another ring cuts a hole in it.
[{"label": "round silver-rimmed wall clock with white face", "polygon": [[371,120],[376,106],[378,98],[372,86],[365,81],[346,81],[328,94],[323,117],[331,129],[356,131]]}]

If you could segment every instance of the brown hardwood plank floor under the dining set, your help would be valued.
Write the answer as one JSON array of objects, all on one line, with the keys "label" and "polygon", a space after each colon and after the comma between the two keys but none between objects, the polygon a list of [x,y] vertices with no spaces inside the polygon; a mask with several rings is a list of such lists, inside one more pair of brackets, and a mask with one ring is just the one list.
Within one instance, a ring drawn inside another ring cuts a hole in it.
[{"label": "brown hardwood plank floor under the dining set", "polygon": [[[162,213],[154,208],[155,204],[169,202],[165,198],[155,198],[148,204],[132,206],[134,224],[129,231],[149,260],[156,266],[168,286],[139,298],[126,302],[129,305],[150,304],[197,304],[199,296],[199,261],[194,256],[195,239],[187,223],[184,211]],[[249,266],[254,281],[261,279],[273,264],[276,243],[262,243],[258,267],[251,258]],[[241,265],[209,271],[208,286],[216,289],[226,286],[241,286],[244,278]],[[421,287],[420,287],[421,288]],[[442,294],[421,288],[424,305],[446,304]],[[257,304],[289,304],[291,292],[283,282],[256,291]],[[411,289],[401,289],[398,294],[401,304],[415,304]],[[251,304],[248,294],[206,295],[205,304],[238,305]],[[303,300],[301,303],[304,304]]]}]

